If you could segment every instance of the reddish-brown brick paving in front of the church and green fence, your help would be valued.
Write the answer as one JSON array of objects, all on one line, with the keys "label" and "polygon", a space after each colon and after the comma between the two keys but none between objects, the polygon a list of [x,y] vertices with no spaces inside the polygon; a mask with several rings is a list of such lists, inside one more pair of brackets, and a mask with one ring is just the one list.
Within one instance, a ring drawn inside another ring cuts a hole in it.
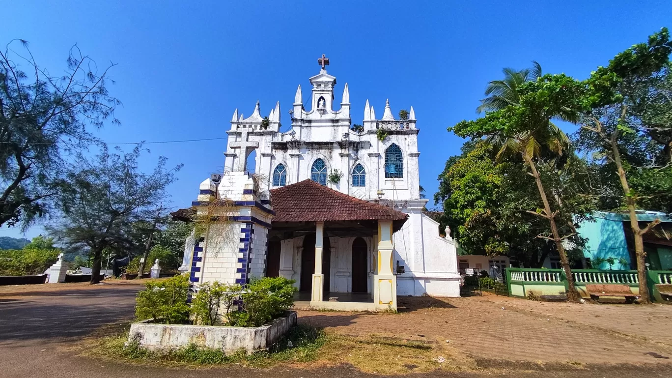
[{"label": "reddish-brown brick paving in front of the church and green fence", "polygon": [[672,361],[645,354],[672,356],[672,305],[575,305],[495,295],[400,297],[399,304],[406,308],[398,314],[300,311],[300,322],[357,336],[450,340],[453,348],[473,358],[541,363]]}]

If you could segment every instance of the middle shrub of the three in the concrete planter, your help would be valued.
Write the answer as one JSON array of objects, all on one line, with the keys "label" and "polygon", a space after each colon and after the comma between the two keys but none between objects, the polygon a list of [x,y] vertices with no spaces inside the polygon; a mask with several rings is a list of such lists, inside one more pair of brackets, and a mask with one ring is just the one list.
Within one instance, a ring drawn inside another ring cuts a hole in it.
[{"label": "middle shrub of the three in the concrete planter", "polygon": [[192,299],[194,323],[214,326],[228,322],[228,313],[242,290],[241,285],[224,285],[217,281],[199,285],[198,293]]}]

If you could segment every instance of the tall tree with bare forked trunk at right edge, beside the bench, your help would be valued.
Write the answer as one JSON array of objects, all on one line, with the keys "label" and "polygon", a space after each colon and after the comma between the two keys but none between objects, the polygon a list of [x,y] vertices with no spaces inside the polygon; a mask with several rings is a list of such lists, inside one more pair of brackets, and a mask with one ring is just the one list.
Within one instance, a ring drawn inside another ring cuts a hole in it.
[{"label": "tall tree with bare forked trunk at right edge, beside the bench", "polygon": [[587,110],[577,136],[579,145],[599,153],[597,161],[618,178],[620,204],[628,212],[634,236],[643,303],[650,302],[643,235],[660,219],[641,227],[637,210],[642,205],[672,209],[671,52],[669,32],[663,28],[593,72],[584,83]]}]

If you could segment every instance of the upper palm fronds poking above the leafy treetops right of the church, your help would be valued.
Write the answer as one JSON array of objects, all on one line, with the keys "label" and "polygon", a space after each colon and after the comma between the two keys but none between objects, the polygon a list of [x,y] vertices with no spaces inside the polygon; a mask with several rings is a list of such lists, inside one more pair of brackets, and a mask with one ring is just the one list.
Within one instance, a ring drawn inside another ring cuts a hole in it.
[{"label": "upper palm fronds poking above the leafy treetops right of the church", "polygon": [[476,108],[476,112],[482,113],[499,110],[508,105],[518,105],[520,102],[518,88],[526,81],[536,81],[542,77],[542,66],[536,61],[532,61],[532,66],[532,68],[520,71],[508,67],[503,69],[504,79],[488,83],[485,88],[485,96],[488,97],[480,100],[480,106]]}]

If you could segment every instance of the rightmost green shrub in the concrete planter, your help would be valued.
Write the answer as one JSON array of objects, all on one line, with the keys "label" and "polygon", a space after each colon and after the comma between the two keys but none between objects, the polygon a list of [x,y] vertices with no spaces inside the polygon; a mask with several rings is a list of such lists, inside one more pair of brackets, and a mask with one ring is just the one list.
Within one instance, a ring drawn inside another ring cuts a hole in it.
[{"label": "rightmost green shrub in the concrete planter", "polygon": [[294,305],[294,280],[284,277],[254,279],[241,296],[243,314],[229,317],[232,326],[259,327],[282,316]]}]

